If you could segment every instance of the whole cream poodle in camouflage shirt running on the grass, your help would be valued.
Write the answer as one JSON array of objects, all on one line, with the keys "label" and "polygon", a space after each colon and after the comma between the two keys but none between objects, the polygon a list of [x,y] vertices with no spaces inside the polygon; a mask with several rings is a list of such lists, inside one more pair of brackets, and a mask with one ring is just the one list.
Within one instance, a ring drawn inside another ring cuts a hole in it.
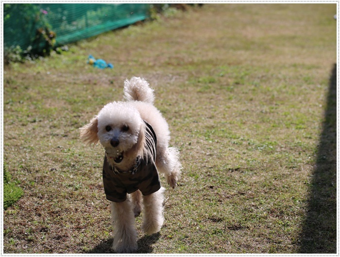
[{"label": "whole cream poodle in camouflage shirt running on the grass", "polygon": [[169,126],[153,106],[153,89],[142,78],[124,82],[126,102],[106,104],[80,128],[88,145],[105,149],[102,170],[106,199],[111,201],[115,236],[113,250],[137,250],[135,217],[144,206],[142,230],[153,234],[163,225],[164,188],[158,172],[175,188],[181,173],[179,151],[169,147]]}]

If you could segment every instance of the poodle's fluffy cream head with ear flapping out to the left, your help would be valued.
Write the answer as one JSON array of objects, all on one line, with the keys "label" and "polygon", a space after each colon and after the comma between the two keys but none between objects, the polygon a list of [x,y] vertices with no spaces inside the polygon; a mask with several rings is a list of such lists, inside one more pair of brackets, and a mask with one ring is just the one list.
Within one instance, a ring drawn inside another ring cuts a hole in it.
[{"label": "poodle's fluffy cream head with ear flapping out to the left", "polygon": [[120,163],[136,145],[142,124],[135,107],[124,102],[108,103],[81,128],[81,138],[88,144],[100,141],[107,158]]}]

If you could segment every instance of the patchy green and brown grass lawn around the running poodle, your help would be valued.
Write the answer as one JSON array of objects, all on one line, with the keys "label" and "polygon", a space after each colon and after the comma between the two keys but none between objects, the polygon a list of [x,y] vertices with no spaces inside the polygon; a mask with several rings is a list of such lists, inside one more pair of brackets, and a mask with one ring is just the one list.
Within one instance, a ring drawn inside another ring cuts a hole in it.
[{"label": "patchy green and brown grass lawn around the running poodle", "polygon": [[[336,4],[205,4],[3,72],[3,159],[24,195],[4,253],[111,253],[103,149],[79,127],[155,89],[180,148],[165,224],[138,253],[336,253]],[[88,54],[114,64],[94,69]]]}]

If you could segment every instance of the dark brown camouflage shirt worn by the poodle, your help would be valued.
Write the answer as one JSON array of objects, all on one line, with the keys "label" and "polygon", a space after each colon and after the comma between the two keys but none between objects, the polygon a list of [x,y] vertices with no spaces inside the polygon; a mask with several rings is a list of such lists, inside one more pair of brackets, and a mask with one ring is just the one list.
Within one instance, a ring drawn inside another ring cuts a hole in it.
[{"label": "dark brown camouflage shirt worn by the poodle", "polygon": [[130,171],[119,171],[104,158],[102,178],[106,199],[112,202],[124,202],[127,193],[140,190],[143,195],[152,194],[161,188],[158,171],[155,165],[157,138],[152,126],[146,126],[146,154],[136,158],[136,165]]}]

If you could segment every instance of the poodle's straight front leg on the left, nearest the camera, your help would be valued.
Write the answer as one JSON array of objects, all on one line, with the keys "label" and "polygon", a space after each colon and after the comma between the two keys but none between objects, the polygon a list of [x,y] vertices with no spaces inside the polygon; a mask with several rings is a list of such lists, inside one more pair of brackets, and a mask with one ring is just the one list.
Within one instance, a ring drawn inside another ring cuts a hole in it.
[{"label": "poodle's straight front leg on the left, nearest the camera", "polygon": [[111,202],[111,219],[115,231],[113,250],[119,254],[131,254],[138,248],[135,215],[130,200]]}]

